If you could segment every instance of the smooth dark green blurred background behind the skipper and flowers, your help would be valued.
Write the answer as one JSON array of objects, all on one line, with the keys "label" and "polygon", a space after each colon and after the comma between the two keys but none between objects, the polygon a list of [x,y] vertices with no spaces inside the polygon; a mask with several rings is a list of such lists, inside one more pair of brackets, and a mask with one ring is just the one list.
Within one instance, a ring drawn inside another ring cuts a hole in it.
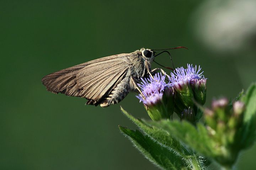
[{"label": "smooth dark green blurred background behind the skipper and flowers", "polygon": [[[171,51],[174,64],[201,65],[208,78],[206,106],[214,97],[234,98],[256,80],[256,32],[248,31],[240,46],[233,48],[235,40],[231,39],[219,47],[217,40],[223,41],[215,39],[218,19],[214,20],[214,15],[211,19],[202,17],[209,10],[218,13],[218,7],[226,3],[205,3],[0,1],[0,169],[157,169],[118,129],[118,125],[136,128],[121,113],[120,106],[135,117],[149,119],[135,94],[108,108],[85,106],[84,98],[46,91],[41,78],[141,47],[186,46],[190,50]],[[243,11],[233,15],[242,16]],[[214,27],[209,27],[212,21]],[[247,23],[241,24],[247,28]],[[217,37],[226,40],[233,34],[239,33],[230,30]],[[171,66],[165,55],[156,61]],[[254,146],[241,154],[238,169],[256,169],[255,152]]]}]

